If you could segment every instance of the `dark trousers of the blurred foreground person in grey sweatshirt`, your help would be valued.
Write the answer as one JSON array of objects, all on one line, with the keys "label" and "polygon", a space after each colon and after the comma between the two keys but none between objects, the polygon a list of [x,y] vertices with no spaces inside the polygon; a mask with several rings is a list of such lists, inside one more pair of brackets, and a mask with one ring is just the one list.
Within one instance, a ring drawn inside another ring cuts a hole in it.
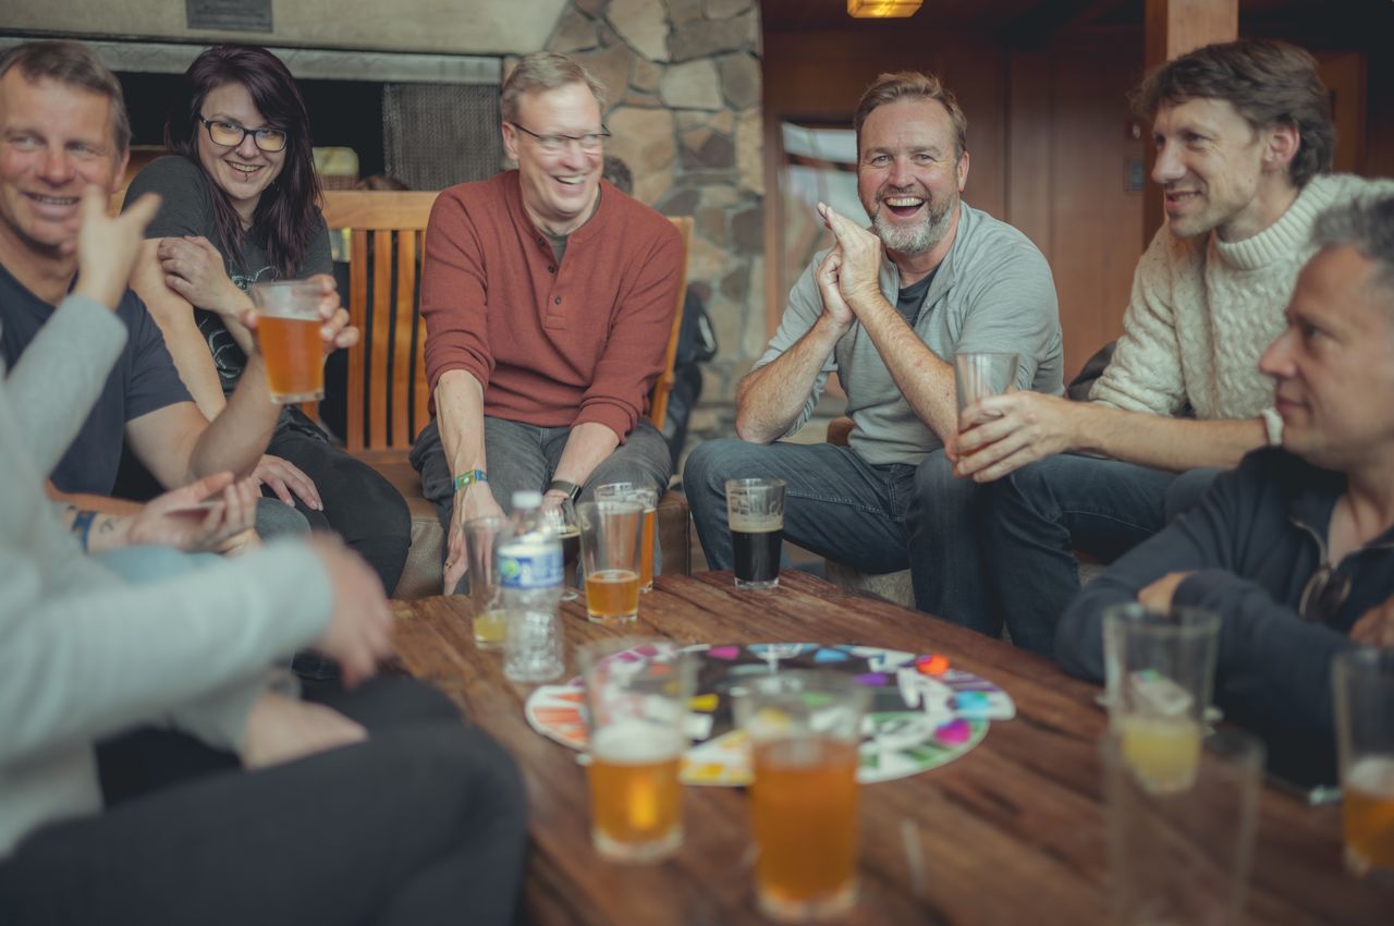
[{"label": "dark trousers of the blurred foreground person in grey sweatshirt", "polygon": [[408,679],[322,700],[369,739],[148,781],[45,827],[0,863],[4,922],[510,923],[527,841],[512,759]]}]

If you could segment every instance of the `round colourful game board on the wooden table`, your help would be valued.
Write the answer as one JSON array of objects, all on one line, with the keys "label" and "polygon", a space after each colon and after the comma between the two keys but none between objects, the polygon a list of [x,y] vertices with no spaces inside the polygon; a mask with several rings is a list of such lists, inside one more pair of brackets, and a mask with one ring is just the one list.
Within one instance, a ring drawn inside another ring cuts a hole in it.
[{"label": "round colourful game board on the wooden table", "polygon": [[[1011,720],[1011,696],[984,678],[949,665],[941,654],[868,646],[760,643],[687,647],[698,658],[683,781],[690,785],[750,784],[744,735],[733,728],[730,689],[742,678],[775,669],[820,668],[850,674],[871,689],[857,781],[905,778],[952,761],[976,746],[994,720]],[[643,658],[643,648],[634,651]],[[585,749],[581,681],[533,692],[526,713],[533,729],[572,749]]]}]

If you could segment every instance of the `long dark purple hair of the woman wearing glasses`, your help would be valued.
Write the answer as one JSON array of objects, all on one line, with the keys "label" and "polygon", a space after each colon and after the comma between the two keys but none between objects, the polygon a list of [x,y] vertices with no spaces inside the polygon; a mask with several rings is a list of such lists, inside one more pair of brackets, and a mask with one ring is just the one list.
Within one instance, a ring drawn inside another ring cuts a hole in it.
[{"label": "long dark purple hair of the woman wearing glasses", "polygon": [[[309,142],[309,114],[305,100],[296,86],[296,78],[279,57],[266,49],[250,45],[216,45],[184,71],[180,95],[164,123],[164,144],[184,155],[199,169],[198,135],[204,100],[224,84],[241,84],[251,93],[256,109],[272,128],[283,130],[286,162],[276,181],[262,191],[252,216],[252,229],[266,238],[266,255],[289,278],[305,259],[309,241],[319,227],[319,176]],[[243,226],[227,199],[227,194],[204,172],[204,180],[213,194],[217,237],[223,252],[240,261],[243,254]]]}]

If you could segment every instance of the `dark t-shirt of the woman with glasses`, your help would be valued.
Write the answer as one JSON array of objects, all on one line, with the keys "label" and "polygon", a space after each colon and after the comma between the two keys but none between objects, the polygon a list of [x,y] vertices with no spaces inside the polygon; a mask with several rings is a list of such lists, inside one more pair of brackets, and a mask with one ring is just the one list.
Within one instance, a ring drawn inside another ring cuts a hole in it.
[{"label": "dark t-shirt of the woman with glasses", "polygon": [[[155,191],[160,194],[160,212],[145,230],[148,238],[174,238],[185,234],[197,234],[223,252],[223,243],[217,237],[217,215],[213,211],[213,191],[204,174],[204,169],[188,158],[171,155],[153,160],[145,170],[137,174],[125,194],[125,201],[132,202],[141,194]],[[268,190],[262,195],[276,195]],[[332,273],[333,261],[329,251],[329,229],[325,227],[323,216],[316,216],[319,229],[309,241],[309,252],[304,262],[296,268],[291,279],[304,279],[315,273]],[[243,255],[240,261],[229,259],[223,252],[224,269],[240,289],[247,289],[252,283],[280,279],[280,273],[272,266],[266,257],[265,237],[252,230],[243,237]],[[194,321],[198,331],[208,342],[208,349],[213,353],[213,365],[217,368],[217,378],[223,386],[223,395],[231,395],[237,388],[237,381],[247,365],[247,354],[237,346],[233,336],[223,326],[223,319],[216,312],[202,308],[194,310]]]}]

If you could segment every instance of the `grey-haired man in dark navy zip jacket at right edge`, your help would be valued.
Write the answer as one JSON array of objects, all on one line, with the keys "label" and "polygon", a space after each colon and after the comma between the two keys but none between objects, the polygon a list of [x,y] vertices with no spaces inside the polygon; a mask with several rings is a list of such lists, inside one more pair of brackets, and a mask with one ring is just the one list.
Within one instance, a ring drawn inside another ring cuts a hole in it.
[{"label": "grey-haired man in dark navy zip jacket at right edge", "polygon": [[1326,212],[1316,244],[1259,361],[1282,449],[1246,456],[1090,583],[1057,639],[1061,665],[1100,679],[1108,608],[1217,612],[1217,700],[1309,782],[1334,778],[1331,657],[1394,646],[1394,197]]}]

